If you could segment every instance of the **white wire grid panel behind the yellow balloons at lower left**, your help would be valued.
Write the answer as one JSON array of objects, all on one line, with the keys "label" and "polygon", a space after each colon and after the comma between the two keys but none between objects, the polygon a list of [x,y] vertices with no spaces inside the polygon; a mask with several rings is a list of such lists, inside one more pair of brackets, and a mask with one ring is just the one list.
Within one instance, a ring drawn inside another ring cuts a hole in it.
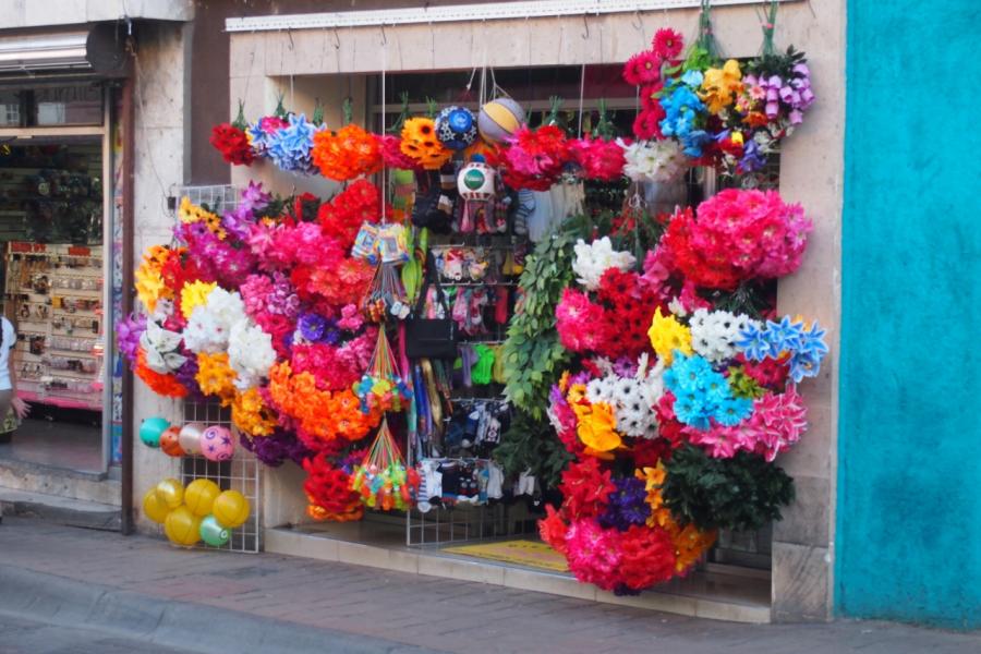
[{"label": "white wire grid panel behind the yellow balloons at lower left", "polygon": [[[235,438],[239,436],[231,424],[231,410],[223,409],[218,402],[184,402],[184,424],[187,423],[221,425],[231,429]],[[261,476],[258,461],[252,452],[238,447],[230,461],[209,461],[201,456],[183,457],[180,459],[180,477],[185,487],[194,480],[210,480],[222,491],[238,491],[249,500],[249,519],[241,526],[229,530],[228,543],[221,547],[198,543],[195,547],[253,554],[259,550]]]}]

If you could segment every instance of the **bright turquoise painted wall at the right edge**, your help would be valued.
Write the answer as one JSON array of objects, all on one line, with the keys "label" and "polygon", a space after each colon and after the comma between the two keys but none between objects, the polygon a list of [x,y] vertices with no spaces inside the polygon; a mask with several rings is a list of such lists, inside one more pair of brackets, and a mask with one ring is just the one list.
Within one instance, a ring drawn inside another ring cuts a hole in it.
[{"label": "bright turquoise painted wall at the right edge", "polygon": [[835,605],[981,628],[981,0],[849,0]]}]

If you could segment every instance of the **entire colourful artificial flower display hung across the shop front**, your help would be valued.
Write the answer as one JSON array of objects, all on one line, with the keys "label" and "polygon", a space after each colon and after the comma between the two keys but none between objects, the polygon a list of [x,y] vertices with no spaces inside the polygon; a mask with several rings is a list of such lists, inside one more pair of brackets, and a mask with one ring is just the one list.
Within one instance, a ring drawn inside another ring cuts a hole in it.
[{"label": "entire colourful artificial flower display hung across the shop front", "polygon": [[[390,211],[371,177],[423,182],[477,161],[511,191],[627,178],[621,211],[586,210],[526,262],[504,349],[520,413],[496,456],[557,488],[541,535],[581,581],[635,593],[687,574],[717,530],[759,528],[791,501],[776,459],[806,432],[798,385],[827,353],[818,323],[777,316],[771,292],[800,266],[811,231],[800,206],[728,190],[649,216],[639,201],[644,184],[693,167],[758,171],[814,101],[803,56],[775,53],[772,27],[740,64],[715,56],[707,20],[687,51],[662,29],[625,66],[640,94],[632,138],[532,129],[509,98],[476,116],[404,116],[386,134],[349,111],[331,130],[281,105],[246,123],[240,107],[213,133],[226,161],[343,186],[322,201],[250,183],[221,215],[182,201],[174,243],[136,271],[143,311],[118,326],[121,351],[155,392],[230,407],[262,462],[301,465],[312,519],[411,508],[419,480],[399,467],[404,433],[386,415],[412,414],[415,396],[385,320],[389,300],[420,286],[428,222]],[[384,274],[382,223],[402,243]],[[370,311],[379,292],[395,295]]]}]

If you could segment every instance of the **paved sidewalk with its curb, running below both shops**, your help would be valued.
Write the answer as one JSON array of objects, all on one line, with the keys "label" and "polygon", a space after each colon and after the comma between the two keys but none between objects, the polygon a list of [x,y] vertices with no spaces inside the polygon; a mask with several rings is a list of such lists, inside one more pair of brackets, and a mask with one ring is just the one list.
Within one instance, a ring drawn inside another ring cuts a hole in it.
[{"label": "paved sidewalk with its curb, running below both shops", "polygon": [[15,518],[0,524],[3,611],[201,652],[981,651],[981,634],[880,622],[735,625]]}]

